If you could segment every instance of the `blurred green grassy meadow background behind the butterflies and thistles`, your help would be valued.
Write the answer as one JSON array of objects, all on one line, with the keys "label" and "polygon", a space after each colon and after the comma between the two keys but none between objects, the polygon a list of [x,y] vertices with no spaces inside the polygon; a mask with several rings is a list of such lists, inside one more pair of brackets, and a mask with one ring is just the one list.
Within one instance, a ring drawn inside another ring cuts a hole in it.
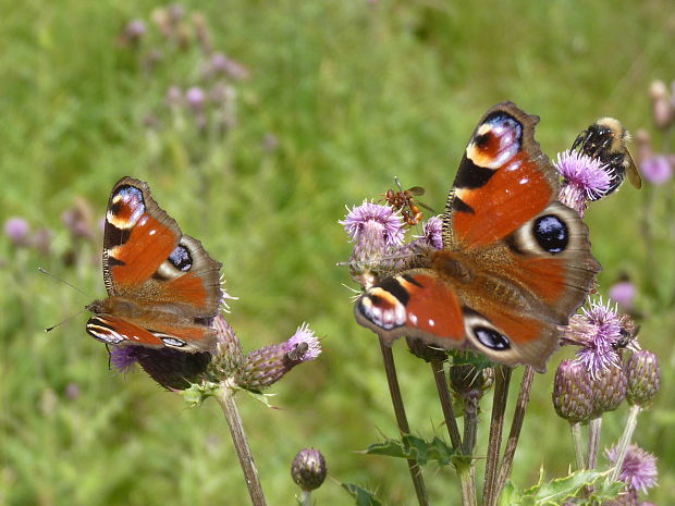
[{"label": "blurred green grassy meadow background behind the butterflies and thistles", "polygon": [[[0,237],[0,504],[247,504],[214,402],[189,409],[143,372],[110,371],[85,316],[44,332],[103,296],[98,222],[123,175],[147,181],[224,263],[226,288],[240,297],[228,320],[246,350],[303,321],[323,340],[319,360],[273,387],[282,409],[241,396],[269,504],[293,503],[290,464],[307,446],[323,452],[332,479],[317,504],[352,503],[335,480],[415,504],[403,461],[351,452],[396,429],[376,337],[353,321],[342,285],[352,283],[335,267],[351,252],[338,224],[345,205],[379,198],[397,175],[442,209],[476,122],[506,99],[541,116],[537,137],[552,158],[601,115],[648,128],[661,150],[667,138],[652,126],[647,91],[652,79],[675,78],[672,0],[163,7],[0,1],[0,217],[22,217],[50,239],[40,251]],[[125,32],[132,20],[144,26]],[[229,60],[213,66],[209,44]],[[172,86],[183,100],[198,86],[206,100],[193,91],[193,109],[171,106]],[[660,488],[649,497],[661,505],[675,497],[672,194],[672,185],[626,185],[587,218],[604,268],[600,292],[622,271],[633,276],[642,346],[661,359],[662,392],[636,433],[659,457]],[[90,208],[90,238],[62,221],[76,201]],[[552,371],[569,354],[536,380],[518,485],[532,484],[541,465],[554,477],[573,462],[567,422],[550,399]],[[444,435],[428,367],[401,343],[395,355],[414,431]],[[605,417],[603,444],[625,416],[624,406]],[[458,503],[452,470],[431,466],[426,477],[433,504]]]}]

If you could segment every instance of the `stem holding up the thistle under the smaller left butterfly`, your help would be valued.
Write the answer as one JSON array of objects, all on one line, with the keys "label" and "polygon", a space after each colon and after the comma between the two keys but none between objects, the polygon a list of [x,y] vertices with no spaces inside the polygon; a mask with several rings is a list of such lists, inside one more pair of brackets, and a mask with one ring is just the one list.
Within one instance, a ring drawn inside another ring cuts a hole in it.
[{"label": "stem holding up the thistle under the smaller left butterfly", "polygon": [[244,471],[244,479],[248,488],[248,495],[250,495],[250,503],[254,506],[266,506],[267,502],[262,494],[258,469],[256,468],[256,462],[254,461],[250,447],[248,446],[242,417],[240,416],[240,410],[234,400],[234,392],[235,391],[231,388],[230,385],[224,384],[221,388],[221,393],[217,396],[218,403],[225,415],[228,425],[230,425],[230,433],[232,434],[232,441],[236,448],[236,455],[240,458],[242,471]]}]

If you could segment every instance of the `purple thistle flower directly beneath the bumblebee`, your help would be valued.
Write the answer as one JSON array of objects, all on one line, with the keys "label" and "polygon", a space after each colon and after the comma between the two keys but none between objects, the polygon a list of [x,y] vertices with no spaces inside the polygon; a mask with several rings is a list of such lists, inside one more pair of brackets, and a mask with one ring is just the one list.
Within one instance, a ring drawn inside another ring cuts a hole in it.
[{"label": "purple thistle flower directly beneath the bumblebee", "polygon": [[613,173],[599,159],[592,159],[578,151],[565,150],[557,155],[553,163],[565,184],[559,195],[559,200],[584,215],[586,202],[598,200],[610,189]]}]

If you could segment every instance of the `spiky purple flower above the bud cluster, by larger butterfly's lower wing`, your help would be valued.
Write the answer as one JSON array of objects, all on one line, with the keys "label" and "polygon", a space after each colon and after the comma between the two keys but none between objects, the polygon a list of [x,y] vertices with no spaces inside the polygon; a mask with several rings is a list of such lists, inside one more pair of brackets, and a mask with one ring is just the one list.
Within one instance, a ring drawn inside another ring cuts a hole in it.
[{"label": "spiky purple flower above the bud cluster, by larger butterfly's lower wing", "polygon": [[621,367],[615,345],[622,336],[622,329],[616,308],[599,299],[569,319],[562,342],[581,346],[575,360],[586,367],[591,378],[596,378],[602,370]]}]

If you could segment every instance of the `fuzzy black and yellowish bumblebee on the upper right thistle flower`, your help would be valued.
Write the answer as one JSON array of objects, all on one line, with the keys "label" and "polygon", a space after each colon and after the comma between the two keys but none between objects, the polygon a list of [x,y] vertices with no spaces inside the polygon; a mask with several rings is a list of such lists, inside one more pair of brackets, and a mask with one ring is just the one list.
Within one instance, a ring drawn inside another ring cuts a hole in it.
[{"label": "fuzzy black and yellowish bumblebee on the upper right thistle flower", "polygon": [[[628,174],[628,181],[636,188],[642,186],[642,178],[628,149],[630,134],[618,120],[601,118],[581,132],[572,145],[572,149],[599,160],[610,174],[610,187],[605,195],[616,190]],[[597,200],[600,197],[593,198]]]}]

